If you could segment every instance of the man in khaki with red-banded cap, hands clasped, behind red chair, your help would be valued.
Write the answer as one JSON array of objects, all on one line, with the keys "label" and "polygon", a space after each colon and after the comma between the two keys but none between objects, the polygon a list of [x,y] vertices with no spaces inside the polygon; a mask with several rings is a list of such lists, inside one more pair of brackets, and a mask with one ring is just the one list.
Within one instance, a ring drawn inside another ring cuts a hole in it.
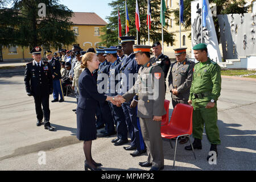
[{"label": "man in khaki with red-banded cap, hands clasped, behind red chair", "polygon": [[[168,78],[169,88],[172,96],[172,106],[177,104],[188,104],[188,97],[193,77],[195,63],[187,60],[187,48],[174,49],[176,62],[171,65]],[[188,142],[188,138],[181,138],[180,143]]]}]

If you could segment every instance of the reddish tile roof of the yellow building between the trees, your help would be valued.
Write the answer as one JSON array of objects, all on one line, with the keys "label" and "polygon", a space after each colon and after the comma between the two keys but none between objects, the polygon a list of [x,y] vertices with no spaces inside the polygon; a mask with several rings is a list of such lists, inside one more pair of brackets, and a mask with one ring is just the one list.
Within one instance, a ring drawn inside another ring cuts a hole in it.
[{"label": "reddish tile roof of the yellow building between the trees", "polygon": [[73,24],[83,24],[83,25],[106,25],[106,23],[100,16],[96,13],[80,13],[74,12],[74,16],[71,18]]}]

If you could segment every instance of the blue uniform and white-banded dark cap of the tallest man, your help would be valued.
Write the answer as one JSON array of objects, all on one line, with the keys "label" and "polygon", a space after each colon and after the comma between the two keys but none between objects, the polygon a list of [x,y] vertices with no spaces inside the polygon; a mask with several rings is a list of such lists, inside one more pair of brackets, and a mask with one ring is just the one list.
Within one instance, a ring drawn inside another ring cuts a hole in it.
[{"label": "blue uniform and white-banded dark cap of the tallest man", "polygon": [[[134,38],[121,37],[121,44],[129,41],[134,41]],[[123,76],[125,76],[124,78],[126,78],[126,80],[122,79],[119,94],[125,94],[135,84],[137,76],[134,74],[138,73],[140,67],[141,65],[138,65],[137,61],[135,60],[134,53],[123,57],[120,70]],[[133,99],[138,101],[138,96],[134,96]],[[131,137],[131,147],[137,147],[137,150],[141,152],[145,150],[145,144],[141,133],[139,118],[137,118],[137,107],[131,108],[131,101],[123,103],[122,109],[123,113],[125,114],[128,131]]]}]

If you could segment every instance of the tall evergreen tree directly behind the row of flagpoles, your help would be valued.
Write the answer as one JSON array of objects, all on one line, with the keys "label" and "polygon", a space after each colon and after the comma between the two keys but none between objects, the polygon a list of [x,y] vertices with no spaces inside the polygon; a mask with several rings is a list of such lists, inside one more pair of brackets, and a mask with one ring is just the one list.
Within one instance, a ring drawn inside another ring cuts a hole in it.
[{"label": "tall evergreen tree directly behind the row of flagpoles", "polygon": [[[135,26],[135,0],[127,1],[127,9],[129,12],[130,26],[129,26],[129,36],[136,36],[136,26]],[[105,32],[104,35],[101,36],[102,42],[101,45],[105,46],[115,46],[118,44],[118,11],[119,7],[121,23],[122,23],[122,35],[125,35],[125,1],[123,0],[115,0],[109,3],[109,6],[113,7],[113,11],[111,16],[108,16],[109,24],[102,28],[102,31]],[[141,22],[141,28],[138,32],[138,44],[141,44],[141,40],[146,40],[148,42],[148,28],[147,28],[147,1],[146,0],[138,0],[139,6],[139,18]],[[151,30],[150,30],[150,40],[151,42],[156,42],[158,40],[162,40],[162,26],[160,23],[160,1],[159,0],[151,0]],[[166,11],[166,19],[170,18],[171,11]],[[173,43],[174,34],[168,33],[167,25],[163,28],[164,30],[164,42]],[[147,43],[146,43],[147,44]]]}]

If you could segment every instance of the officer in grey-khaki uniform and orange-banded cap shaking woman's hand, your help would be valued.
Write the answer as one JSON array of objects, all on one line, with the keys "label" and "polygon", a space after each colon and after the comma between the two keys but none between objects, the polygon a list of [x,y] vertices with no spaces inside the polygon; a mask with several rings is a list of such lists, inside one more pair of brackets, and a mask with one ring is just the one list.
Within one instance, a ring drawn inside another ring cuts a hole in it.
[{"label": "officer in grey-khaki uniform and orange-banded cap shaking woman's hand", "polygon": [[147,146],[148,159],[140,162],[142,167],[151,167],[151,171],[164,168],[163,142],[160,132],[164,109],[164,73],[158,64],[150,61],[150,46],[134,45],[136,60],[142,67],[138,79],[129,92],[123,94],[126,101],[138,95],[138,117],[141,131]]}]

